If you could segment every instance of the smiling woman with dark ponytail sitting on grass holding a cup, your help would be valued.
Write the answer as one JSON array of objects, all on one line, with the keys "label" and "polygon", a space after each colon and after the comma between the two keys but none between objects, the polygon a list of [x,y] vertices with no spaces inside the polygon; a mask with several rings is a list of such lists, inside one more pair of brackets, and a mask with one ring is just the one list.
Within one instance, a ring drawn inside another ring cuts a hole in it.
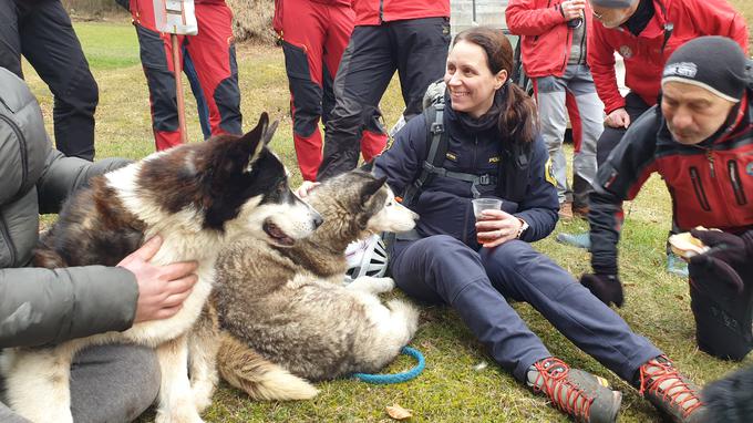
[{"label": "smiling woman with dark ponytail sitting on grass holding a cup", "polygon": [[[396,285],[416,299],[453,307],[503,368],[579,421],[615,421],[621,394],[553,357],[507,299],[530,303],[675,421],[700,419],[698,388],[528,244],[551,233],[558,202],[535,105],[508,82],[512,66],[513,50],[501,30],[473,28],[455,38],[444,75],[447,149],[441,168],[406,204],[421,219],[414,233],[394,241],[390,266]],[[425,116],[408,122],[374,163],[395,193],[424,166]],[[475,221],[472,199],[479,196],[504,203]]]}]

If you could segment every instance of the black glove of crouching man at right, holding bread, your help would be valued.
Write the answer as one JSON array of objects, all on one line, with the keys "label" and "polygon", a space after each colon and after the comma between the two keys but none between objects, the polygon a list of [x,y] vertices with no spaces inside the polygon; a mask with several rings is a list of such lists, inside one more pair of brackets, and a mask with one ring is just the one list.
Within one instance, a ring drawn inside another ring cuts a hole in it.
[{"label": "black glove of crouching man at right, holding bread", "polygon": [[729,281],[737,292],[742,292],[745,286],[737,270],[753,266],[753,231],[736,236],[719,230],[692,229],[690,235],[711,247],[709,251],[690,258],[691,268],[720,272],[721,280]]}]

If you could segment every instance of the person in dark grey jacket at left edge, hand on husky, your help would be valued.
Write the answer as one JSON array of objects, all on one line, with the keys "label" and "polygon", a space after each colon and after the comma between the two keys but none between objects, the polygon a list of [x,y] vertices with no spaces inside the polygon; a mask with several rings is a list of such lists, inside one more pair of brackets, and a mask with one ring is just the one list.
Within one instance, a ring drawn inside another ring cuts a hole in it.
[{"label": "person in dark grey jacket at left edge, hand on husky", "polygon": [[[99,174],[127,164],[91,163],[52,148],[42,113],[27,85],[0,69],[0,355],[3,348],[54,344],[134,322],[174,316],[196,282],[196,262],[154,266],[158,237],[117,267],[27,267],[39,214]],[[1,371],[1,369],[0,369]],[[2,400],[0,374],[0,401]],[[131,421],[154,402],[159,365],[154,350],[112,344],[86,349],[71,369],[75,421]],[[0,422],[25,422],[0,402]]]}]

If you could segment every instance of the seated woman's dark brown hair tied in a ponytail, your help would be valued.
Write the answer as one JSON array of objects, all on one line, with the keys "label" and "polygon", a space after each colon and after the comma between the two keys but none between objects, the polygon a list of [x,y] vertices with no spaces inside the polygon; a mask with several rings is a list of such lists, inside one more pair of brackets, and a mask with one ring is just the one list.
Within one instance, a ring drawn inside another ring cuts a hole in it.
[{"label": "seated woman's dark brown hair tied in a ponytail", "polygon": [[507,71],[507,81],[501,90],[507,90],[499,122],[497,123],[503,136],[512,142],[530,143],[537,132],[536,125],[536,104],[519,86],[512,83],[509,78],[513,75],[513,45],[507,35],[501,30],[492,27],[470,28],[453,40],[453,47],[458,41],[466,41],[481,47],[486,53],[486,63],[492,74],[503,69]]}]

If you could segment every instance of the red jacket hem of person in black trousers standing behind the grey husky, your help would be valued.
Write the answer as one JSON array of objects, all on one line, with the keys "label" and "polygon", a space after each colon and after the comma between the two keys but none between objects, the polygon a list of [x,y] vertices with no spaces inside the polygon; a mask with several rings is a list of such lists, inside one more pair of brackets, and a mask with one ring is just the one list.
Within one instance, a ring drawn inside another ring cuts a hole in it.
[{"label": "red jacket hem of person in black trousers standing behind the grey husky", "polygon": [[450,0],[352,0],[357,25],[404,19],[450,18]]}]

